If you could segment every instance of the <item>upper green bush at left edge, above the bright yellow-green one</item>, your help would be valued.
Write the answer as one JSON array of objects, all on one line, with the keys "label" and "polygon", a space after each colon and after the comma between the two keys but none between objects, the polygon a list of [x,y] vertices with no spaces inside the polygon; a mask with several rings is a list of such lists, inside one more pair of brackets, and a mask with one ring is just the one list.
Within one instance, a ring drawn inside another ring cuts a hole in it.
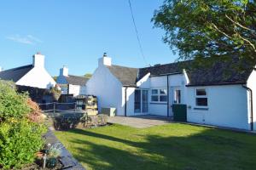
[{"label": "upper green bush at left edge, above the bright yellow-green one", "polygon": [[30,112],[27,94],[18,94],[14,82],[0,80],[0,122],[14,117],[22,118]]}]

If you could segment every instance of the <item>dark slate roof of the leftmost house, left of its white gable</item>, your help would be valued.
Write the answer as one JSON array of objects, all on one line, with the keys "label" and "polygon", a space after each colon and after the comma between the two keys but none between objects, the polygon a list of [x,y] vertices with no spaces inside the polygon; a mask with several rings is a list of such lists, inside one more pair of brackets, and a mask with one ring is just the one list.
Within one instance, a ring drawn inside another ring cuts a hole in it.
[{"label": "dark slate roof of the leftmost house, left of its white gable", "polygon": [[32,70],[32,68],[33,65],[25,65],[6,71],[0,71],[0,79],[18,82],[20,78],[24,77],[28,71]]}]

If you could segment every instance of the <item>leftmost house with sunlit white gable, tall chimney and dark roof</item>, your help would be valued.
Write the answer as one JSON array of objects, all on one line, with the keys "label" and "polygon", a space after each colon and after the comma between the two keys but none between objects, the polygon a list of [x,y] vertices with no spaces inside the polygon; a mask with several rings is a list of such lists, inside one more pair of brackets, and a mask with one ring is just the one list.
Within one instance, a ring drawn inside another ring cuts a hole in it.
[{"label": "leftmost house with sunlit white gable, tall chimney and dark roof", "polygon": [[44,55],[40,53],[32,56],[32,65],[0,71],[0,79],[13,81],[16,85],[33,88],[55,87],[55,80],[44,67]]}]

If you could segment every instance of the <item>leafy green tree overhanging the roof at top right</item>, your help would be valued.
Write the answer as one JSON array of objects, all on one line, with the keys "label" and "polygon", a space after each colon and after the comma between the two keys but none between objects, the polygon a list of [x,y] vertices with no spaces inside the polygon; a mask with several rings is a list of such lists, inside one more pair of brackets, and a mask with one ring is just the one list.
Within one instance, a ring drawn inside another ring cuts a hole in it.
[{"label": "leafy green tree overhanging the roof at top right", "polygon": [[179,59],[256,64],[255,0],[166,0],[152,21]]}]

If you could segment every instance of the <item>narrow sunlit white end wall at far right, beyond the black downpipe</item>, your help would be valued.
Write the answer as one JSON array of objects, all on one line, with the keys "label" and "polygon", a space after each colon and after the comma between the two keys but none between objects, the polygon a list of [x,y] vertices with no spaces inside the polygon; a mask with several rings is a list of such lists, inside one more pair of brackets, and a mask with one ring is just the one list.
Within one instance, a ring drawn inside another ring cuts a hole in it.
[{"label": "narrow sunlit white end wall at far right, beyond the black downpipe", "polygon": [[[253,71],[247,80],[247,87],[253,90],[253,130],[256,130],[256,71]],[[247,92],[248,122],[250,123],[250,95]]]}]

